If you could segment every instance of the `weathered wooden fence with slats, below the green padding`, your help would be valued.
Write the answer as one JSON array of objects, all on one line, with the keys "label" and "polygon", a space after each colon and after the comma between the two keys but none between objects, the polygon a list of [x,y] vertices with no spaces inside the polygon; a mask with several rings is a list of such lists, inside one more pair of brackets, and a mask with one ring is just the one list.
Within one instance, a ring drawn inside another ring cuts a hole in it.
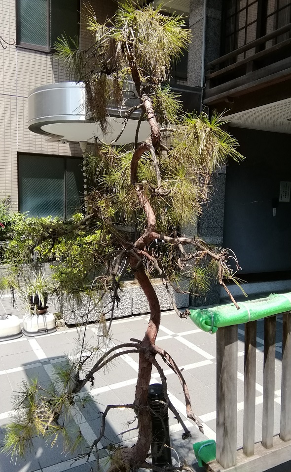
[{"label": "weathered wooden fence with slats, below the green padding", "polygon": [[283,314],[280,434],[274,436],[276,316],[264,319],[262,441],[255,444],[256,321],[245,324],[243,448],[237,451],[238,327],[217,332],[217,459],[208,471],[262,472],[291,460],[291,314]]}]

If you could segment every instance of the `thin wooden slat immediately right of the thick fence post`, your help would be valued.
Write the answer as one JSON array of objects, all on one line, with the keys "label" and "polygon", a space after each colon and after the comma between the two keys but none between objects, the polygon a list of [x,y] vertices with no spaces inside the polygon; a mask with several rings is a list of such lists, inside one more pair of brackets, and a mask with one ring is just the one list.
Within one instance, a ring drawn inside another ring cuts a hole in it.
[{"label": "thin wooden slat immediately right of the thick fence post", "polygon": [[244,445],[243,453],[255,451],[255,358],[256,321],[245,324]]}]

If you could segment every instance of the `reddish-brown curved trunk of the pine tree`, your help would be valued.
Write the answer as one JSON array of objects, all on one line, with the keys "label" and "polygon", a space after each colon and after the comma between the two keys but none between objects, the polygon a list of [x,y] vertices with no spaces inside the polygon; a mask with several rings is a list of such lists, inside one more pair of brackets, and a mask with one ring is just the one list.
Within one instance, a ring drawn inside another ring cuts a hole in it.
[{"label": "reddish-brown curved trunk of the pine tree", "polygon": [[[152,100],[142,88],[140,76],[132,57],[130,57],[130,67],[136,90],[144,105],[146,118],[151,129],[150,140],[147,140],[146,142],[142,143],[136,149],[132,157],[131,183],[135,185],[138,184],[137,167],[142,154],[146,152],[146,150],[148,150],[150,146],[156,147],[159,144],[161,137],[159,126],[153,111]],[[143,236],[142,242],[140,241],[140,244],[144,246],[146,244],[148,233],[155,231],[156,218],[154,211],[151,208],[150,202],[143,192],[142,184],[138,184],[136,186],[136,192],[140,204],[145,211],[147,220],[146,233]],[[139,262],[140,260],[138,256],[133,253],[130,257],[130,266],[135,273],[136,280],[140,283],[140,286],[146,295],[150,309],[150,319],[146,329],[145,337],[141,344],[141,347],[144,349],[139,354],[139,372],[135,391],[135,405],[136,414],[138,417],[139,435],[135,446],[130,449],[125,448],[117,452],[117,456],[119,456],[120,462],[117,466],[112,464],[109,472],[117,472],[117,469],[118,472],[120,472],[120,463],[123,464],[123,470],[125,471],[129,468],[140,467],[146,461],[146,457],[151,443],[151,418],[147,404],[147,393],[151,377],[152,363],[148,360],[146,354],[147,352],[150,352],[150,354],[152,355],[151,347],[155,344],[155,340],[159,330],[159,325],[161,321],[161,308],[158,297],[146,275],[145,269],[143,265],[139,267]]]}]

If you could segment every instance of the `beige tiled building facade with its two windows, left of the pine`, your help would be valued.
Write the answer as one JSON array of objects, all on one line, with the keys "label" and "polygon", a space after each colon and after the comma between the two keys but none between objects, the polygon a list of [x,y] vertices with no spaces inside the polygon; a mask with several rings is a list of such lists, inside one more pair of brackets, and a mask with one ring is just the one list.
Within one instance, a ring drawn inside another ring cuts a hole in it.
[{"label": "beige tiled building facade with its two windows, left of the pine", "polygon": [[[115,10],[113,1],[91,1],[100,21]],[[69,216],[82,191],[79,143],[47,141],[28,129],[28,94],[39,86],[70,80],[53,55],[57,37],[90,38],[80,23],[79,0],[1,0],[0,36],[0,198],[13,210],[34,216]],[[36,180],[40,184],[36,184]],[[32,194],[33,193],[33,194]]]}]

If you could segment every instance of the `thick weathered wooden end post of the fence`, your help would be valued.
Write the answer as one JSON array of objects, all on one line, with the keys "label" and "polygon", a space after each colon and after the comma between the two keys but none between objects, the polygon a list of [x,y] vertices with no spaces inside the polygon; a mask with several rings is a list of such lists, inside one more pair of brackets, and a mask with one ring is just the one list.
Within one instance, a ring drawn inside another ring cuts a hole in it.
[{"label": "thick weathered wooden end post of the fence", "polygon": [[217,332],[217,461],[224,468],[236,464],[237,325]]}]

